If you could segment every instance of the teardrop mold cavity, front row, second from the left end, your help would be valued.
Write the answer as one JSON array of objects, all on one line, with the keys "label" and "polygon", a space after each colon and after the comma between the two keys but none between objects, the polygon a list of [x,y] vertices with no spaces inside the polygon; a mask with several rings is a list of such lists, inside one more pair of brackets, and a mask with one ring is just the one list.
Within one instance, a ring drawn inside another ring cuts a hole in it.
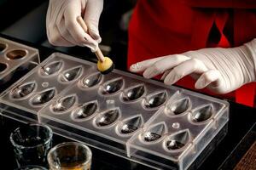
[{"label": "teardrop mold cavity, front row, second from the left end", "polygon": [[46,91],[36,94],[32,98],[32,105],[43,105],[55,96],[55,89],[48,89]]}]

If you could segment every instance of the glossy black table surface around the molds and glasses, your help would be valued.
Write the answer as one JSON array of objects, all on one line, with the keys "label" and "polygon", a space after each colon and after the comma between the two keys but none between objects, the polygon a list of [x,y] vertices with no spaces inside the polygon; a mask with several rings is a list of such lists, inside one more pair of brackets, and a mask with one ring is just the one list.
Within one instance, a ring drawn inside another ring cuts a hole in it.
[{"label": "glossy black table surface around the molds and glasses", "polygon": [[[0,37],[4,37],[0,35]],[[7,37],[13,39],[11,37]],[[13,39],[15,40],[15,39]],[[20,42],[19,40],[15,40]],[[26,45],[38,48],[41,59],[45,59],[53,51],[48,48],[38,47],[35,44]],[[247,107],[245,105],[239,105],[230,102],[230,121],[228,123],[228,133],[221,141],[220,144],[212,151],[211,155],[202,163],[199,169],[232,169],[236,166],[236,163],[247,151],[247,147],[239,150],[237,156],[230,156],[232,151],[236,149],[237,144],[241,142],[241,139],[247,134],[247,132],[253,127],[256,122],[256,109]],[[16,167],[15,157],[13,149],[9,142],[9,134],[16,128],[24,126],[24,123],[17,122],[7,117],[1,116],[0,125],[0,165],[5,167],[3,169],[14,169]],[[59,144],[70,139],[63,138],[58,135],[54,135],[53,144]],[[91,148],[93,152],[92,170],[149,170],[152,168],[145,167],[133,161],[128,161],[119,156],[113,156],[102,150]],[[231,158],[232,161],[227,161]],[[224,162],[229,162],[229,166],[225,165]],[[2,169],[2,168],[1,168]]]}]

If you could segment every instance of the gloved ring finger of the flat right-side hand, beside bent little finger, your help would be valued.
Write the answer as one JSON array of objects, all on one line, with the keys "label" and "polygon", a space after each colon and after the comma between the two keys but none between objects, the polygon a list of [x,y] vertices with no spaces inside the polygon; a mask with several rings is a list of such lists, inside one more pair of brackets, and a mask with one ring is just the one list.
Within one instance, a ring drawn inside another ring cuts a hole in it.
[{"label": "gloved ring finger of the flat right-side hand, beside bent little finger", "polygon": [[189,59],[184,61],[182,64],[177,65],[172,69],[172,71],[166,76],[165,83],[167,85],[172,85],[181,78],[191,74],[197,73],[201,74],[207,71],[206,65],[199,59]]}]

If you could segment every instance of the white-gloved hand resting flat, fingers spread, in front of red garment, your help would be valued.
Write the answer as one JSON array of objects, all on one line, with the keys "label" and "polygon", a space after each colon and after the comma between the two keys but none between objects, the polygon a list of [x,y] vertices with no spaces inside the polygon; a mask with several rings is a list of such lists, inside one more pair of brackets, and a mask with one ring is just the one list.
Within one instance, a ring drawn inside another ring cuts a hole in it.
[{"label": "white-gloved hand resting flat, fingers spread, in front of red garment", "polygon": [[256,38],[238,48],[203,48],[144,60],[130,70],[146,78],[164,73],[161,79],[167,85],[190,75],[197,79],[195,88],[226,94],[256,81]]}]

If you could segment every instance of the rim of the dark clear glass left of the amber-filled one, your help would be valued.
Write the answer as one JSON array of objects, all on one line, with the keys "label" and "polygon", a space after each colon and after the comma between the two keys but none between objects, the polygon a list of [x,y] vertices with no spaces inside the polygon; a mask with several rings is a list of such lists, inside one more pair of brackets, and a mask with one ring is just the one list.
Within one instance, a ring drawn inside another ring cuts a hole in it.
[{"label": "rim of the dark clear glass left of the amber-filled one", "polygon": [[32,149],[32,148],[37,148],[37,147],[40,146],[40,145],[44,145],[44,144],[49,143],[50,140],[52,139],[53,132],[52,132],[52,129],[51,129],[49,126],[47,126],[47,125],[45,125],[45,124],[37,124],[37,123],[26,124],[26,126],[28,126],[28,127],[34,127],[34,126],[35,126],[35,127],[44,127],[44,128],[46,128],[46,129],[49,131],[49,137],[48,137],[48,139],[46,139],[46,141],[45,141],[44,143],[42,143],[42,144],[36,144],[36,145],[33,145],[33,146],[23,146],[23,145],[21,145],[21,144],[17,144],[17,143],[15,142],[15,140],[13,139],[13,136],[14,136],[14,134],[15,134],[20,128],[26,128],[26,127],[17,127],[17,128],[15,128],[15,131],[12,132],[12,133],[10,134],[10,136],[9,136],[9,140],[10,140],[10,142],[13,144],[13,146],[15,146],[15,148],[19,148],[19,149],[25,149],[25,148],[27,148],[27,149]]}]

